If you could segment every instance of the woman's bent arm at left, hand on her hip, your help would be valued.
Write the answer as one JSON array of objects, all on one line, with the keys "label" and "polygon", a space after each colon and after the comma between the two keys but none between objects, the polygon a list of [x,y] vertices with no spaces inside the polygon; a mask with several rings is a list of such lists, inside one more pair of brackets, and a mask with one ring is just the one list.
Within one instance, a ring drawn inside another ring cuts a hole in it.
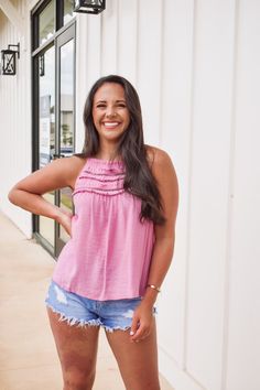
[{"label": "woman's bent arm at left, hand on her hip", "polygon": [[71,213],[48,203],[42,195],[67,186],[74,189],[83,164],[84,160],[77,156],[55,160],[17,183],[9,193],[9,201],[28,212],[55,219],[71,234]]}]

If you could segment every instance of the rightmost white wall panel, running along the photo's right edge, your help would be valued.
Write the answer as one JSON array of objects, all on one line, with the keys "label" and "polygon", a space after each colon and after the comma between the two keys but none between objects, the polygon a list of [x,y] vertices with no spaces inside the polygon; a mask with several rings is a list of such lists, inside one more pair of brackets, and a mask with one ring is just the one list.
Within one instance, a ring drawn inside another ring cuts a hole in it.
[{"label": "rightmost white wall panel, running along the photo's right edge", "polygon": [[226,389],[260,388],[260,3],[240,1],[228,230]]}]

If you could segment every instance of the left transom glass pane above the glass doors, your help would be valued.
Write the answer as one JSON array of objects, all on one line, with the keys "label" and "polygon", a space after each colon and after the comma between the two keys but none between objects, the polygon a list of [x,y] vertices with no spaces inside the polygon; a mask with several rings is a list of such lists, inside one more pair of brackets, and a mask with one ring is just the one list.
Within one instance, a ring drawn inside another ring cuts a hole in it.
[{"label": "left transom glass pane above the glass doors", "polygon": [[52,0],[39,15],[39,44],[43,44],[53,36],[55,31],[54,0]]}]

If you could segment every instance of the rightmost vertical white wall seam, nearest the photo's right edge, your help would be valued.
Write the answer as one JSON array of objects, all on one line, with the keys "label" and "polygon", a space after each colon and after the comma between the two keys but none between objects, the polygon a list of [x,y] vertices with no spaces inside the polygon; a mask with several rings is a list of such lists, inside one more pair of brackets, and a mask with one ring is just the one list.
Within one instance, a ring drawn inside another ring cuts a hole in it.
[{"label": "rightmost vertical white wall seam, nearest the photo's right edge", "polygon": [[237,61],[238,61],[238,14],[239,1],[234,0],[234,41],[232,41],[232,79],[231,79],[231,112],[229,139],[229,172],[228,172],[228,199],[226,224],[226,264],[224,281],[224,324],[223,324],[223,360],[221,360],[221,390],[227,388],[228,371],[228,329],[229,329],[229,292],[230,292],[230,261],[231,261],[231,231],[234,215],[234,180],[235,180],[235,152],[236,152],[236,95],[237,95]]}]

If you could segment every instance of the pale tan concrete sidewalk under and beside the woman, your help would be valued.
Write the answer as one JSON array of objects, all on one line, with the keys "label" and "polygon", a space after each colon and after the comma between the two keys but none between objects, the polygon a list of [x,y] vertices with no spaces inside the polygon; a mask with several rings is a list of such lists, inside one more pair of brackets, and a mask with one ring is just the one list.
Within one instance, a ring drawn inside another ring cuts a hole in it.
[{"label": "pale tan concrete sidewalk under and beside the woman", "polygon": [[[0,390],[62,390],[44,297],[54,260],[0,214]],[[162,390],[172,390],[161,378]],[[100,332],[95,390],[123,390]]]}]

